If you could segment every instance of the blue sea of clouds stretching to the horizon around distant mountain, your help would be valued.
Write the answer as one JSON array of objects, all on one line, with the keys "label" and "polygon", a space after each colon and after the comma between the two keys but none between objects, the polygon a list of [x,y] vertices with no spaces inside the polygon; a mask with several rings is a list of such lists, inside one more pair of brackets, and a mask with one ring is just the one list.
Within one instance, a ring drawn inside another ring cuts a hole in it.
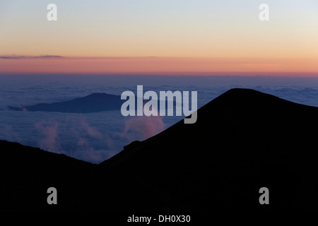
[{"label": "blue sea of clouds stretching to the horizon around distant mountain", "polygon": [[[136,85],[155,92],[197,91],[198,107],[230,88],[252,88],[285,100],[318,107],[317,78],[264,76],[0,76],[0,140],[64,153],[99,163],[132,141],[143,141],[183,117],[123,117],[121,112],[91,114],[16,112],[7,106],[61,102],[91,93],[136,93]],[[199,117],[199,115],[198,115]]]}]

